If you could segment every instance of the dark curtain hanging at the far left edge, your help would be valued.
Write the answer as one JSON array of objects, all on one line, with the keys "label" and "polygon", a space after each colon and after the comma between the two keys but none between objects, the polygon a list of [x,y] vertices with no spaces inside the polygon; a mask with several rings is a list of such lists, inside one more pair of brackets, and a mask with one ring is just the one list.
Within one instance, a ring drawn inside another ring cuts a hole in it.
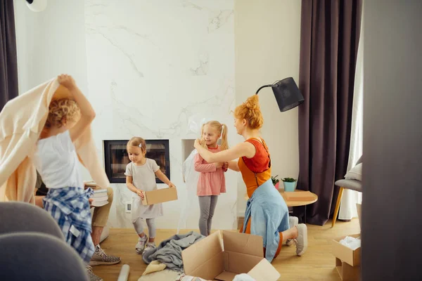
[{"label": "dark curtain hanging at the far left edge", "polygon": [[18,93],[13,0],[0,0],[0,110]]}]

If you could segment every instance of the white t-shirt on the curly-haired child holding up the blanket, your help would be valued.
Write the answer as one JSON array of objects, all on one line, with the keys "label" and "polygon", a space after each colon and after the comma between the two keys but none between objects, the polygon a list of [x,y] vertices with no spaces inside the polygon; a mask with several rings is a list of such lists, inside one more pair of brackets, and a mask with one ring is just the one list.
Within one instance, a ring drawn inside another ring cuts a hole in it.
[{"label": "white t-shirt on the curly-haired child holding up the blanket", "polygon": [[37,142],[34,164],[46,188],[84,188],[69,131]]}]

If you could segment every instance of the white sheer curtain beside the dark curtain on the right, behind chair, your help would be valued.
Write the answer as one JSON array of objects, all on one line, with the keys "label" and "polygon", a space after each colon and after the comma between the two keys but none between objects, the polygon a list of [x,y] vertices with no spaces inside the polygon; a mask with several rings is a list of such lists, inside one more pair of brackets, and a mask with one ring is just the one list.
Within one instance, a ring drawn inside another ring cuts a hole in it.
[{"label": "white sheer curtain beside the dark curtain on the right, behind chair", "polygon": [[[356,73],[354,74],[352,131],[347,171],[353,168],[362,156],[364,125],[364,15],[362,11],[361,34],[357,50]],[[364,164],[363,164],[364,165]],[[357,217],[356,203],[362,204],[362,192],[345,189],[340,204],[339,219],[350,220]]]}]

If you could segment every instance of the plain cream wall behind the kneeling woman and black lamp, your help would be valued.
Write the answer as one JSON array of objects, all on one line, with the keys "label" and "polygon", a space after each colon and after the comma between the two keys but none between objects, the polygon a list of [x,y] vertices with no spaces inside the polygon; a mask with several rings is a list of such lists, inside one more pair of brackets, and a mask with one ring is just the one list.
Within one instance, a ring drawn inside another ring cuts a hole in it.
[{"label": "plain cream wall behind the kneeling woman and black lamp", "polygon": [[[276,80],[293,77],[299,84],[300,8],[299,0],[235,1],[236,104]],[[272,174],[297,178],[298,108],[281,113],[271,89],[262,89],[259,95]],[[244,195],[239,177],[238,214],[245,209]]]}]

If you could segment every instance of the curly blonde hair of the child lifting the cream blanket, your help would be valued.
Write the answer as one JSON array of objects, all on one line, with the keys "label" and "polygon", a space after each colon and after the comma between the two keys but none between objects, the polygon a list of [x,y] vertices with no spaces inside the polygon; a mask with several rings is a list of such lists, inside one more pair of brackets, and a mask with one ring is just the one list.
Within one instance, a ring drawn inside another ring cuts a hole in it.
[{"label": "curly blonde hair of the child lifting the cream blanket", "polygon": [[69,98],[60,98],[58,100],[51,100],[49,105],[49,116],[47,117],[45,127],[65,126],[66,122],[76,121],[80,117],[79,106],[75,100]]}]

